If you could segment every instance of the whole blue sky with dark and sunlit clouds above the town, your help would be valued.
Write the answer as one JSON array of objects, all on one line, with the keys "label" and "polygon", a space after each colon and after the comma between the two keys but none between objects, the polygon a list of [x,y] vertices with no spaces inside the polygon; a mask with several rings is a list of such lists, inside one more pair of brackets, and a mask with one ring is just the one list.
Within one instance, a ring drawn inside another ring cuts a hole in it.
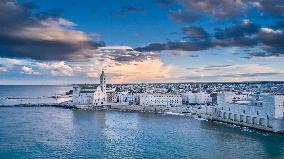
[{"label": "whole blue sky with dark and sunlit clouds above the town", "polygon": [[1,0],[0,85],[283,81],[283,0]]}]

